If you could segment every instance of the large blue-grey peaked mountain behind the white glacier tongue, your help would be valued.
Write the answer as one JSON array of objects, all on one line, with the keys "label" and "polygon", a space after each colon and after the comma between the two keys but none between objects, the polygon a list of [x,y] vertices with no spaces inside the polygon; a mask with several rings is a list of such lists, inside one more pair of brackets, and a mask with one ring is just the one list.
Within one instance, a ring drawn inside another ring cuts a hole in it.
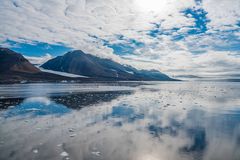
[{"label": "large blue-grey peaked mountain behind the white glacier tongue", "polygon": [[156,70],[137,70],[110,59],[102,59],[75,50],[44,63],[44,69],[83,75],[105,80],[174,80]]}]

